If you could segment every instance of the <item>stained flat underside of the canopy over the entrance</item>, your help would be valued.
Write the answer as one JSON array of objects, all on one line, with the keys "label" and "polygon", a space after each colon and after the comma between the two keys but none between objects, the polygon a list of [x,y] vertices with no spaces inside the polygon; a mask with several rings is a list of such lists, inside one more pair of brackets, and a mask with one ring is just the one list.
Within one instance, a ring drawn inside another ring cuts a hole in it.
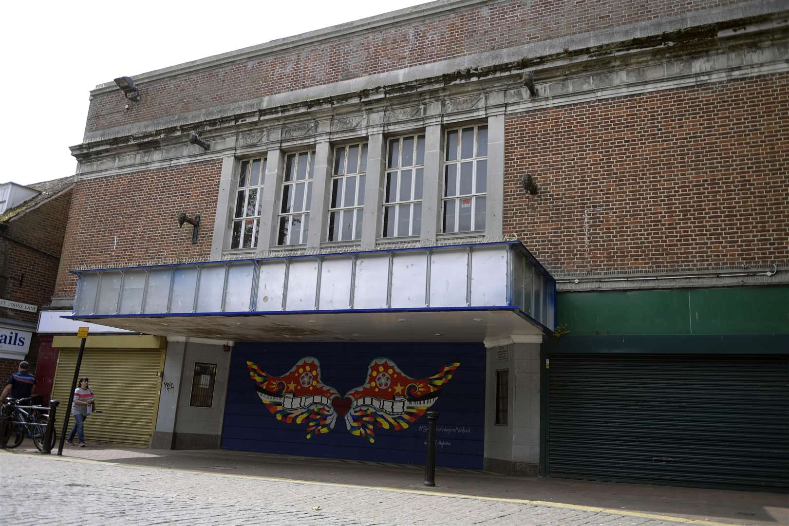
[{"label": "stained flat underside of the canopy over the entrance", "polygon": [[234,341],[484,341],[546,329],[515,310],[372,311],[273,315],[91,318],[92,323],[167,337]]}]

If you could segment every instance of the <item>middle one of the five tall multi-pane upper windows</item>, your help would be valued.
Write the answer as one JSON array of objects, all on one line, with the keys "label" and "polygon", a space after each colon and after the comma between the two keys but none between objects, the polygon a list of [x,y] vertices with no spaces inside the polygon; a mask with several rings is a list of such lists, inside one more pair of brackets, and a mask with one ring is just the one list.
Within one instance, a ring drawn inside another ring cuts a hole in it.
[{"label": "middle one of the five tall multi-pane upper windows", "polygon": [[328,241],[361,239],[361,216],[365,206],[367,143],[335,147],[331,177]]}]

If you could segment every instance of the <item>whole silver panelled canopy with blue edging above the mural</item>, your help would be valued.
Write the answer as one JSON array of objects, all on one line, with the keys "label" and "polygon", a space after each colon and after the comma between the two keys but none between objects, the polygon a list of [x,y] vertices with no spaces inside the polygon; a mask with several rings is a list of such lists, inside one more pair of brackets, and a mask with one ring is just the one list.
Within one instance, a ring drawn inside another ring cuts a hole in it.
[{"label": "whole silver panelled canopy with blue edging above the mural", "polygon": [[147,334],[481,341],[555,328],[555,281],[518,241],[75,273],[68,318]]}]

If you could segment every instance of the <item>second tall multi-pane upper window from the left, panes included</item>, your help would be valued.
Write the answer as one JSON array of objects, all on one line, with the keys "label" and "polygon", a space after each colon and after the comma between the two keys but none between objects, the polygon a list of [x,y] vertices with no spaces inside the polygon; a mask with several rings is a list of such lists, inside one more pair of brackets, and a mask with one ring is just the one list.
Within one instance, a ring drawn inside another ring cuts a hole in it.
[{"label": "second tall multi-pane upper window from the left, panes included", "polygon": [[288,154],[282,177],[282,209],[279,214],[277,244],[302,244],[309,232],[309,203],[315,151]]}]

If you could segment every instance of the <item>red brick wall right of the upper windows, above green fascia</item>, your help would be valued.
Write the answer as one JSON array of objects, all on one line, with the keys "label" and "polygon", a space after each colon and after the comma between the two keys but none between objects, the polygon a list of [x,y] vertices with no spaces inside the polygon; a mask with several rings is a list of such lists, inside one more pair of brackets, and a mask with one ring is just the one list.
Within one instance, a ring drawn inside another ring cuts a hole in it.
[{"label": "red brick wall right of the upper windows, above green fascia", "polygon": [[786,74],[537,110],[505,133],[504,233],[549,270],[789,261]]}]

